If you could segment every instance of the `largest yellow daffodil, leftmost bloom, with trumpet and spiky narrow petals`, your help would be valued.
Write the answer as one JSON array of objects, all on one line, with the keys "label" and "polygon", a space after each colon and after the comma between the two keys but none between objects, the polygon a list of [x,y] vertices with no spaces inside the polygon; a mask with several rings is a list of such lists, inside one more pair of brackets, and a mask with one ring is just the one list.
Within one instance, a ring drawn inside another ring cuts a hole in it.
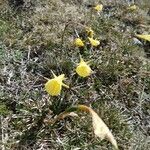
[{"label": "largest yellow daffodil, leftmost bloom, with trumpet and spiky narrow petals", "polygon": [[[53,72],[52,72],[53,73]],[[53,73],[54,78],[49,79],[47,83],[45,84],[46,91],[52,95],[52,96],[58,96],[62,90],[62,86],[69,88],[66,84],[64,84],[62,81],[65,80],[65,75],[61,74],[59,76],[56,76]]]}]

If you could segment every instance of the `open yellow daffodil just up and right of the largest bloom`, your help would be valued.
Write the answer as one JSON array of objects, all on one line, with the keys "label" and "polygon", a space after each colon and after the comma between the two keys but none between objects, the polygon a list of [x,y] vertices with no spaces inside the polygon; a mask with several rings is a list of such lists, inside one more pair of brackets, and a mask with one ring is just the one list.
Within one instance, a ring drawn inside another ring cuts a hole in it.
[{"label": "open yellow daffodil just up and right of the largest bloom", "polygon": [[92,70],[88,65],[88,62],[85,62],[82,58],[80,58],[80,63],[76,68],[76,72],[81,77],[87,77],[91,75]]}]

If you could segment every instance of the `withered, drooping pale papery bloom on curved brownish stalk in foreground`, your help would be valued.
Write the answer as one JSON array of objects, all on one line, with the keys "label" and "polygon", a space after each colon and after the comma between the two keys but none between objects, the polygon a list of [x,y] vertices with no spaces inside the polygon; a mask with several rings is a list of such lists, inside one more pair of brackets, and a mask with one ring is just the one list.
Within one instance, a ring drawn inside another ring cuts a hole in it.
[{"label": "withered, drooping pale papery bloom on curved brownish stalk in foreground", "polygon": [[117,141],[115,140],[111,131],[109,130],[107,125],[104,123],[104,121],[98,116],[98,114],[90,107],[87,107],[85,105],[72,106],[66,109],[66,111],[59,114],[54,119],[53,123],[55,123],[56,121],[59,121],[60,119],[64,119],[67,116],[70,116],[70,113],[75,112],[75,111],[83,111],[83,112],[89,113],[92,117],[92,125],[93,125],[94,134],[97,137],[99,137],[101,140],[108,139],[108,141],[112,143],[114,148],[118,150]]}]

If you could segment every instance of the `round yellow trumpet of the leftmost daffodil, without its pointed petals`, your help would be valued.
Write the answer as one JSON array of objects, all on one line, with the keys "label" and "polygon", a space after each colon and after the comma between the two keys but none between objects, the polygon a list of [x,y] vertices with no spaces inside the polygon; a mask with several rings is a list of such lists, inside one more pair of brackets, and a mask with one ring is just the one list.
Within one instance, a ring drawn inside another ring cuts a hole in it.
[{"label": "round yellow trumpet of the leftmost daffodil, without its pointed petals", "polygon": [[57,96],[61,92],[62,84],[56,79],[51,79],[45,84],[45,89],[50,95]]}]

